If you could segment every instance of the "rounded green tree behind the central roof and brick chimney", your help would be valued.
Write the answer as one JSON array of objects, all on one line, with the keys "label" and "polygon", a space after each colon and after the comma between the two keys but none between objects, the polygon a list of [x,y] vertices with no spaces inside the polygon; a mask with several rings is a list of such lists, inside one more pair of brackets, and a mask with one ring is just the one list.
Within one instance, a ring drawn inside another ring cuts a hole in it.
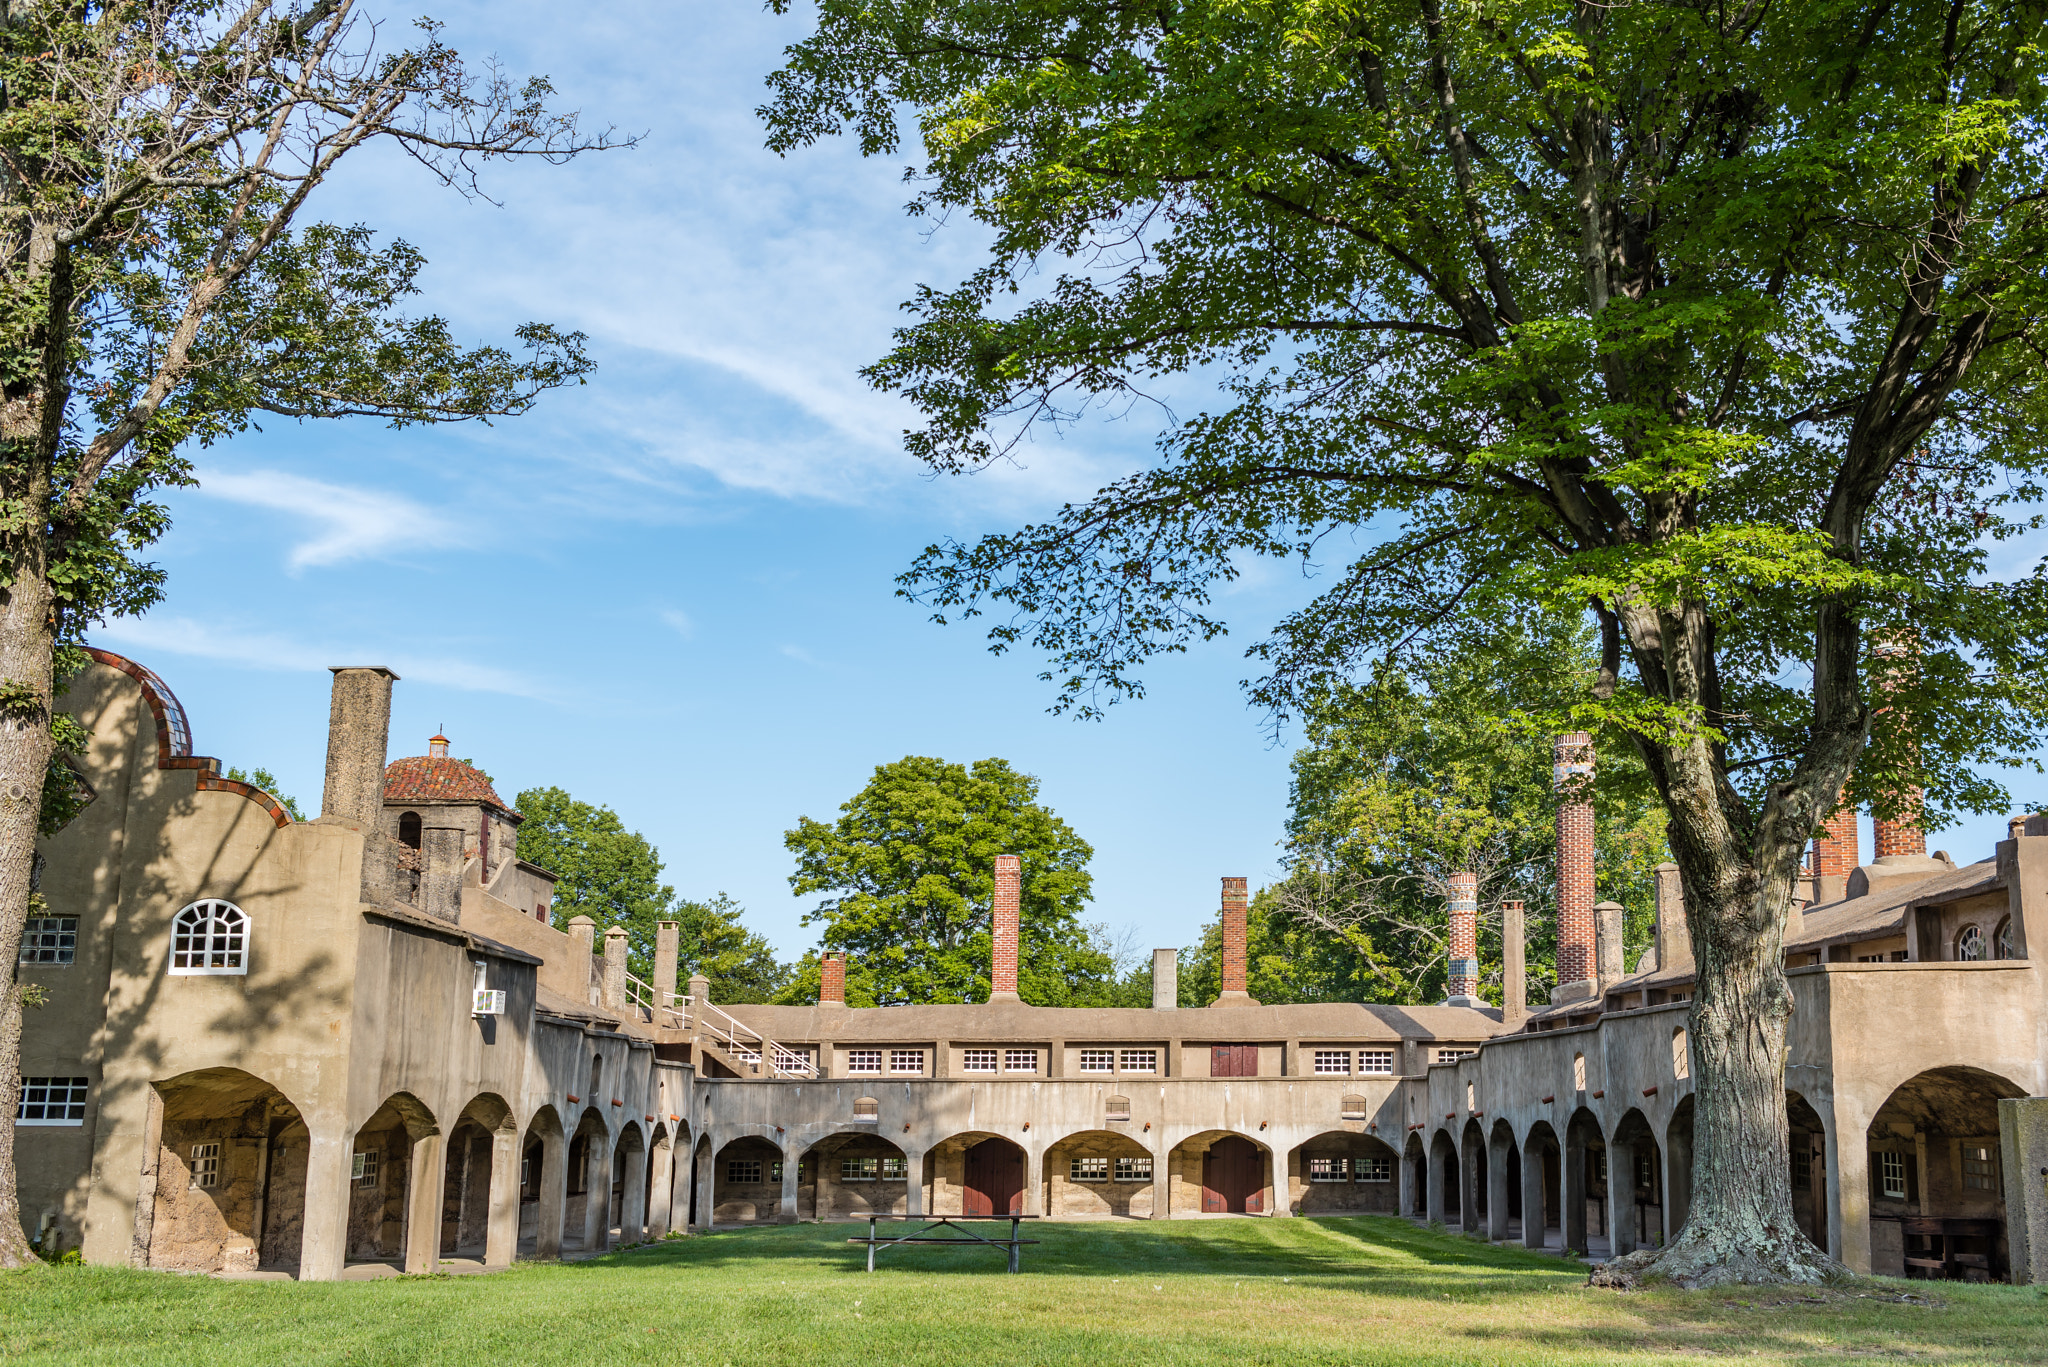
[{"label": "rounded green tree behind the central roof and brick chimney", "polygon": [[852,953],[877,1006],[989,998],[997,855],[1016,855],[1024,875],[1018,996],[1090,1006],[1106,990],[1110,955],[1079,916],[1094,851],[1008,760],[877,764],[838,822],[797,818],[784,844],[797,857],[788,885],[823,894],[803,924]]}]

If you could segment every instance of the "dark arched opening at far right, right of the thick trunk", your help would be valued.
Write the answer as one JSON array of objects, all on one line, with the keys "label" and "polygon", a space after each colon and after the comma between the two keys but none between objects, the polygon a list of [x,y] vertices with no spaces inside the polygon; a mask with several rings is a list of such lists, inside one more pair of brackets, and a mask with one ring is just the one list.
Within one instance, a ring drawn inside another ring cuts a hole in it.
[{"label": "dark arched opening at far right, right of the thick trunk", "polygon": [[2005,1281],[1999,1099],[2025,1090],[1980,1068],[1931,1068],[1870,1121],[1870,1271]]}]

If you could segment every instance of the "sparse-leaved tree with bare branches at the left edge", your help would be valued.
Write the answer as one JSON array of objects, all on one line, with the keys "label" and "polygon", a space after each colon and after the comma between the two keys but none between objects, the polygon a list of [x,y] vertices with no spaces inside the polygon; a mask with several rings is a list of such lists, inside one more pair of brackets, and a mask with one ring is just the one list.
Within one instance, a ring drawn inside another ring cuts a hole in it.
[{"label": "sparse-leaved tree with bare branches at the left edge", "polygon": [[[190,443],[260,414],[518,414],[590,369],[582,334],[543,324],[516,353],[457,344],[406,312],[418,252],[301,221],[369,143],[465,193],[481,162],[606,146],[549,94],[467,68],[428,20],[410,47],[381,41],[352,0],[0,0],[0,961],[20,945],[39,797],[72,783],[51,764],[53,666],[92,621],[158,598],[137,553],[166,527],[152,494],[190,484]],[[10,969],[0,1267],[31,1256],[20,1008]]]}]

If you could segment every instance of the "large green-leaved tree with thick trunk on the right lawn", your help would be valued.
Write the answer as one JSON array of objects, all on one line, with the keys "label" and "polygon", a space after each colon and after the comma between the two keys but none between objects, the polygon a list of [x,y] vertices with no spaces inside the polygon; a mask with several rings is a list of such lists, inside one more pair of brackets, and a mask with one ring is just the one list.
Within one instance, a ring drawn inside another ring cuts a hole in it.
[{"label": "large green-leaved tree with thick trunk on the right lawn", "polygon": [[1333,557],[1253,648],[1284,713],[1374,658],[1589,615],[1552,726],[1628,736],[1700,967],[1683,1281],[1829,1273],[1790,1213],[1784,918],[1847,795],[2005,803],[2042,730],[2042,0],[821,0],[770,146],[922,139],[989,258],[870,369],[934,469],[1214,377],[1161,459],[936,545],[1063,705]]}]

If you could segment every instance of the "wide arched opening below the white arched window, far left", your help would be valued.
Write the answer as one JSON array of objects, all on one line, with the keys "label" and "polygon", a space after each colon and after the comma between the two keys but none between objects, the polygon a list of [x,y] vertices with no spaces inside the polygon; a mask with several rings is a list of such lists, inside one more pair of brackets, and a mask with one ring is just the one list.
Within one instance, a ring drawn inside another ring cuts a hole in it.
[{"label": "wide arched opening below the white arched window, far left", "polygon": [[299,1271],[311,1135],[281,1090],[240,1068],[156,1086],[162,1129],[143,1170],[150,1267],[184,1273]]}]

